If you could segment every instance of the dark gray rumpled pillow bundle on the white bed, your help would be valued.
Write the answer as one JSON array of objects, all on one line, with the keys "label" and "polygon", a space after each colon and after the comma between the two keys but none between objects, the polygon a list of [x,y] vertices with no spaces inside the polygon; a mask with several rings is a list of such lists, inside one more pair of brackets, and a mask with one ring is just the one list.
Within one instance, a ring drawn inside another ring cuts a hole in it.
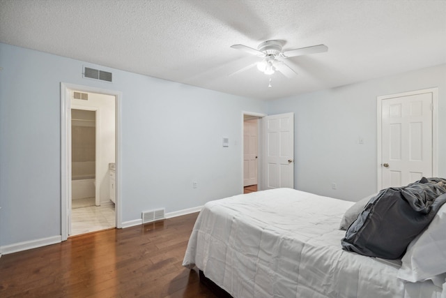
[{"label": "dark gray rumpled pillow bundle on the white bed", "polygon": [[348,228],[342,249],[371,257],[401,258],[410,241],[446,202],[446,189],[437,182],[423,177],[405,187],[380,191]]}]

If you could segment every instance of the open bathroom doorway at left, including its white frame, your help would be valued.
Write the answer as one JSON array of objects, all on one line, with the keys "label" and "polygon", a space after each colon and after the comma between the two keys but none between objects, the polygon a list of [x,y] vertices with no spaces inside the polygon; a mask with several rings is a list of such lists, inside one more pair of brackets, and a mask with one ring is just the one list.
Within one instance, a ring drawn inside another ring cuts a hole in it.
[{"label": "open bathroom doorway at left, including its white frame", "polygon": [[[62,240],[76,234],[122,227],[121,98],[118,91],[61,83]],[[84,135],[88,135],[89,142],[94,140],[94,146],[91,143],[81,145],[80,151],[73,152],[72,137]],[[75,189],[77,186],[73,186],[73,182],[76,179],[86,180],[82,183],[88,186]],[[79,199],[79,192],[81,197],[85,197],[82,198],[85,204],[81,201],[73,204],[73,199]],[[108,209],[107,213],[100,208]],[[84,214],[79,216],[79,211],[84,211]],[[79,225],[75,227],[76,222],[82,223],[80,230]]]}]

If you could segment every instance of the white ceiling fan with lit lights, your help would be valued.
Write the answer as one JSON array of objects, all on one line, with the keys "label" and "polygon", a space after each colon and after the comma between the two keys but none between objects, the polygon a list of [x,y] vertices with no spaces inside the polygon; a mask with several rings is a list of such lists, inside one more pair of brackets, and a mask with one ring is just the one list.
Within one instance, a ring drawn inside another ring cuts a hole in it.
[{"label": "white ceiling fan with lit lights", "polygon": [[283,40],[267,40],[261,43],[257,47],[257,50],[253,49],[252,47],[247,47],[246,45],[231,45],[233,49],[242,50],[248,54],[253,54],[257,57],[263,58],[262,61],[241,68],[235,73],[231,73],[231,75],[241,73],[242,71],[257,66],[257,68],[266,75],[272,75],[275,73],[275,70],[277,70],[286,77],[291,78],[297,75],[297,73],[295,73],[293,68],[285,63],[287,58],[328,51],[328,47],[326,45],[313,45],[311,47],[301,47],[299,49],[282,51],[283,45]]}]

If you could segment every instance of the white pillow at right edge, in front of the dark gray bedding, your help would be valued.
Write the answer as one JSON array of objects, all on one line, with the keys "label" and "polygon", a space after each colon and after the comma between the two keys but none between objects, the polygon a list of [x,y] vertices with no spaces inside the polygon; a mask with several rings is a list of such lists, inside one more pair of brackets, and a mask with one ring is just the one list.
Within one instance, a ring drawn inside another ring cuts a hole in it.
[{"label": "white pillow at right edge, in front of the dark gray bedding", "polygon": [[446,272],[446,204],[424,232],[410,242],[397,277],[415,283]]}]

